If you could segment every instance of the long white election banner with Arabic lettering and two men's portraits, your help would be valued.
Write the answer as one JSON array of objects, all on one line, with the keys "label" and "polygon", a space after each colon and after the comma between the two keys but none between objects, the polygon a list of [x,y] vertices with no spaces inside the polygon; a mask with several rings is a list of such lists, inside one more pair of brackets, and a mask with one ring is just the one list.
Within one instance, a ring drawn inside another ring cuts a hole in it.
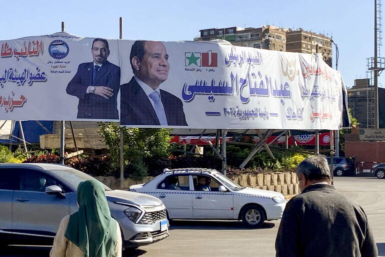
[{"label": "long white election banner with Arabic lettering and two men's portraits", "polygon": [[[346,94],[318,54],[56,33],[0,41],[0,120],[339,129]],[[343,96],[344,95],[344,96]]]}]

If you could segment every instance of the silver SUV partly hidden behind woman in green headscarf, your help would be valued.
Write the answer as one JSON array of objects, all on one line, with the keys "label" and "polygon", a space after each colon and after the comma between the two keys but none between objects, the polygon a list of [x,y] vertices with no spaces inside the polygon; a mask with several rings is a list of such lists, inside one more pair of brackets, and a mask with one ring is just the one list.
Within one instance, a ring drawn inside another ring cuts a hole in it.
[{"label": "silver SUV partly hidden behind woman in green headscarf", "polygon": [[[77,211],[76,188],[91,176],[47,163],[0,164],[0,244],[51,244],[61,219]],[[168,236],[161,200],[103,185],[111,216],[119,223],[123,248]]]}]

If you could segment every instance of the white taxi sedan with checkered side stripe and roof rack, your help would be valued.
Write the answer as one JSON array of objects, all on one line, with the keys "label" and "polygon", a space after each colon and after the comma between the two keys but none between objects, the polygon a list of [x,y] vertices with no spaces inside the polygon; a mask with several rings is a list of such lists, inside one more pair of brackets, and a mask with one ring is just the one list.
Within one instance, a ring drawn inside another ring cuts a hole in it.
[{"label": "white taxi sedan with checkered side stripe and roof rack", "polygon": [[265,220],[281,218],[286,205],[281,193],[241,187],[213,169],[164,169],[129,189],[161,199],[169,219],[237,219],[260,227]]}]

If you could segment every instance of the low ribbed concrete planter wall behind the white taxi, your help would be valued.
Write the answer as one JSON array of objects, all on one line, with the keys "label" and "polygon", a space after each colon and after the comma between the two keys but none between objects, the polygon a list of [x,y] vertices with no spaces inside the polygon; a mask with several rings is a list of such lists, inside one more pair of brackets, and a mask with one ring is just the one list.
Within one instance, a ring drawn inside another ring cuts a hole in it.
[{"label": "low ribbed concrete planter wall behind the white taxi", "polygon": [[[234,175],[228,176],[235,183],[243,187],[252,187],[257,189],[265,189],[280,192],[283,195],[299,194],[298,178],[294,172],[277,172],[277,173],[261,173],[257,175]],[[146,183],[153,177],[144,177],[141,181],[132,179],[124,179],[124,188],[131,185]],[[99,176],[96,179],[113,189],[120,188],[120,180],[115,177]]]}]

